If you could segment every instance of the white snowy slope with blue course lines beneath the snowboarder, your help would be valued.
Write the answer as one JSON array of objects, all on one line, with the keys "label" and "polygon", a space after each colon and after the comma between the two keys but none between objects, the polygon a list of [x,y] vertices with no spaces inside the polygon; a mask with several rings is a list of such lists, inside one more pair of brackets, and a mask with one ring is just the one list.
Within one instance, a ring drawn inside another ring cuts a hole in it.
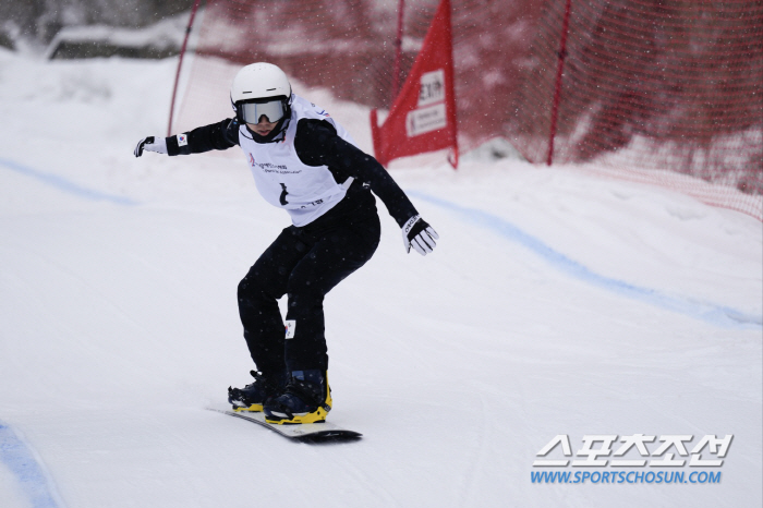
[{"label": "white snowy slope with blue course lines beneath the snowboarder", "polygon": [[[761,223],[569,168],[392,165],[441,241],[405,255],[379,204],[327,298],[361,442],[205,411],[249,382],[235,287],[288,217],[235,156],[132,157],[174,65],[0,52],[0,506],[761,506]],[[734,434],[722,482],[531,482],[556,435],[640,433]]]}]

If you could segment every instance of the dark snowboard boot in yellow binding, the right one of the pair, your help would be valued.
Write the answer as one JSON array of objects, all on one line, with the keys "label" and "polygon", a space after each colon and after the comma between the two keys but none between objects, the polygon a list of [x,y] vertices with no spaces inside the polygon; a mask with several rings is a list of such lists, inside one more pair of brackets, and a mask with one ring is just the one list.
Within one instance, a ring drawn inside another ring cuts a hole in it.
[{"label": "dark snowboard boot in yellow binding, the right one of the pair", "polygon": [[292,371],[280,395],[265,402],[267,423],[320,423],[331,411],[331,388],[326,371]]}]

